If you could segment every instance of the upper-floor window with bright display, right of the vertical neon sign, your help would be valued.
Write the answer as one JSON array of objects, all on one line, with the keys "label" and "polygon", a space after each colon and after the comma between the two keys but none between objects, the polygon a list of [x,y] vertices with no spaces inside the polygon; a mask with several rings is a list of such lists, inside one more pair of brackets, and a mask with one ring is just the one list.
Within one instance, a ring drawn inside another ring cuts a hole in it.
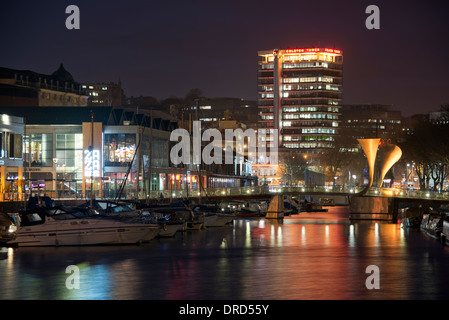
[{"label": "upper-floor window with bright display, right of the vertical neon sign", "polygon": [[132,162],[136,152],[135,134],[105,134],[104,164],[105,166],[127,166]]}]

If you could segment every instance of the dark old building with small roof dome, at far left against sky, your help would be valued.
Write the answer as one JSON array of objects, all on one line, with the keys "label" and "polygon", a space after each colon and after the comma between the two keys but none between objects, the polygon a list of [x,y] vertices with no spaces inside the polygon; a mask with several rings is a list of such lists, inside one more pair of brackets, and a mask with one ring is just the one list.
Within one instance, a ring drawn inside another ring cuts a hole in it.
[{"label": "dark old building with small roof dome, at far left against sky", "polygon": [[51,75],[0,67],[0,106],[87,106],[88,95],[61,64]]}]

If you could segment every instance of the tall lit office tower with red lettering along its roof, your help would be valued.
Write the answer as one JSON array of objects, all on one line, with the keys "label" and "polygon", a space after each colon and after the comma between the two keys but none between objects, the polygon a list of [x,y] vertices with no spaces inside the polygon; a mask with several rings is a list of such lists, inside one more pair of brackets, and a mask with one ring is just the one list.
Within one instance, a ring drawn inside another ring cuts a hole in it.
[{"label": "tall lit office tower with red lettering along its roof", "polygon": [[259,130],[267,144],[304,153],[332,148],[340,122],[341,50],[275,49],[258,57]]}]

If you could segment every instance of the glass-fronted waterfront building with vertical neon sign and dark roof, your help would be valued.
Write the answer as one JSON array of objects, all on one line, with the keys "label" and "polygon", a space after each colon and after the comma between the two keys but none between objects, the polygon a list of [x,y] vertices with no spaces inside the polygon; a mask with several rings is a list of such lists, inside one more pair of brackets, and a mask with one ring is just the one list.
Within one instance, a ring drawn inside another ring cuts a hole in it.
[{"label": "glass-fronted waterfront building with vertical neon sign and dark roof", "polygon": [[99,197],[115,197],[126,181],[124,197],[145,198],[146,192],[167,185],[169,137],[177,125],[166,115],[111,107],[0,110],[26,119],[23,178],[27,190],[74,198],[89,197],[92,190]]}]

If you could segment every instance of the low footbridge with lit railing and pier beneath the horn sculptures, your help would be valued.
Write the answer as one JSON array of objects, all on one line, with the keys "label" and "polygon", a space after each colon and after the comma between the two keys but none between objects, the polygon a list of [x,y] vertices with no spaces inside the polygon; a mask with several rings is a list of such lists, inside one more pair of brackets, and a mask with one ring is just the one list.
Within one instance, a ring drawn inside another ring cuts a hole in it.
[{"label": "low footbridge with lit railing and pier beneath the horn sculptures", "polygon": [[[52,196],[51,191],[46,194]],[[54,193],[53,193],[54,195]],[[320,198],[347,197],[351,219],[395,220],[398,210],[410,205],[439,206],[449,204],[449,192],[434,192],[422,190],[402,190],[393,188],[314,186],[314,187],[284,187],[284,186],[249,186],[208,189],[157,190],[146,195],[140,195],[138,200],[145,202],[169,202],[184,199],[195,201],[227,201],[273,199],[276,195],[315,196]],[[56,204],[76,205],[88,201],[89,198],[53,197]],[[25,199],[23,197],[22,199]],[[108,200],[116,200],[106,198]],[[18,199],[16,199],[18,200]],[[126,200],[126,199],[121,199]],[[129,200],[129,199],[128,199]],[[24,207],[24,201],[0,202],[1,210],[14,212]]]}]

